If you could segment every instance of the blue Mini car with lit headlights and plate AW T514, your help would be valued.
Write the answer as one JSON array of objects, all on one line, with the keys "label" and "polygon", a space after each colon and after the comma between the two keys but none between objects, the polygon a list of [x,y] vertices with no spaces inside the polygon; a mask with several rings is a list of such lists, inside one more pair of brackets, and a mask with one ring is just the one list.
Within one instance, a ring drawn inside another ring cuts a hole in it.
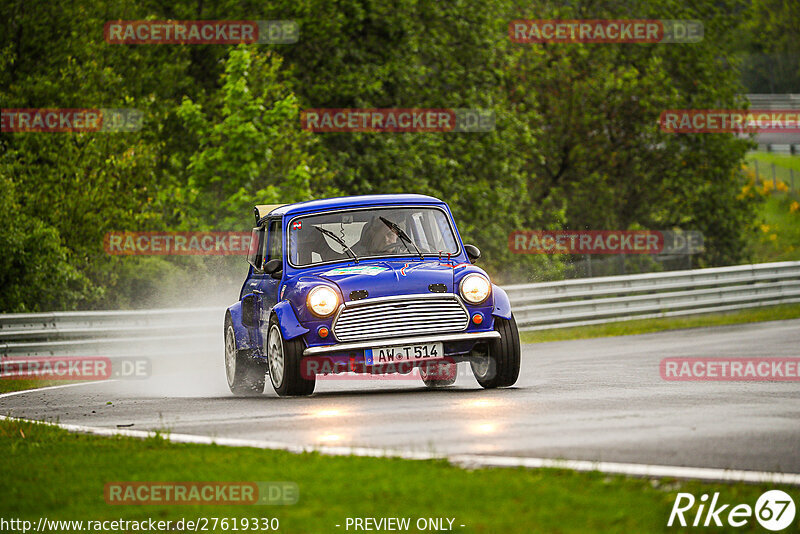
[{"label": "blue Mini car with lit headlights and plate AW T514", "polygon": [[[225,313],[225,371],[237,395],[310,395],[331,373],[455,381],[469,362],[484,388],[519,376],[506,293],[473,263],[447,204],[371,195],[256,206],[247,280]],[[356,375],[360,376],[360,375]]]}]

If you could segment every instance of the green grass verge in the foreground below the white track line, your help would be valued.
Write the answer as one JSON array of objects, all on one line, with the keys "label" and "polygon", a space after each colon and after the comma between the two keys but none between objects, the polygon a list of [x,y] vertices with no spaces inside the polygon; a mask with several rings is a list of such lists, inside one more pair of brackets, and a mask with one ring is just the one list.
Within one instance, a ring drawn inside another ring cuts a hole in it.
[{"label": "green grass verge in the foreground below the white track line", "polygon": [[[281,532],[346,532],[348,517],[450,517],[457,532],[674,532],[666,522],[678,491],[719,491],[726,503],[753,506],[775,489],[102,438],[18,421],[0,422],[0,457],[6,519],[277,517]],[[300,498],[290,506],[106,504],[104,485],[120,481],[293,481]],[[786,491],[800,502],[800,490]],[[755,530],[748,526],[729,530]]]}]

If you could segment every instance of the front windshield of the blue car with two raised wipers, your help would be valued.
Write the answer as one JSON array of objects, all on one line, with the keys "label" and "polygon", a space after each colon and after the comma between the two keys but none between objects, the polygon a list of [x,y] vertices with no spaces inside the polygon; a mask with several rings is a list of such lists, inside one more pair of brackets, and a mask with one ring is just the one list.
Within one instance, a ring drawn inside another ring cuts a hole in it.
[{"label": "front windshield of the blue car with two raised wipers", "polygon": [[458,252],[449,217],[438,208],[392,207],[308,215],[292,219],[288,231],[289,260],[295,267],[354,256],[361,260]]}]

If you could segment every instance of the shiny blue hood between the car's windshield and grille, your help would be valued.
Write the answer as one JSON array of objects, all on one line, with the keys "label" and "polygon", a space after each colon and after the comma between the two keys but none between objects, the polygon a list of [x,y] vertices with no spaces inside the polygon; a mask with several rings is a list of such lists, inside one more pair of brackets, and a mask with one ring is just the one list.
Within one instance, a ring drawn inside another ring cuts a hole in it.
[{"label": "shiny blue hood between the car's windshield and grille", "polygon": [[[314,269],[303,276],[333,283],[345,301],[353,300],[352,291],[367,290],[369,298],[398,294],[430,293],[429,286],[443,284],[444,292],[453,292],[454,264],[431,261],[361,261],[357,265]],[[363,297],[362,297],[363,298]]]}]

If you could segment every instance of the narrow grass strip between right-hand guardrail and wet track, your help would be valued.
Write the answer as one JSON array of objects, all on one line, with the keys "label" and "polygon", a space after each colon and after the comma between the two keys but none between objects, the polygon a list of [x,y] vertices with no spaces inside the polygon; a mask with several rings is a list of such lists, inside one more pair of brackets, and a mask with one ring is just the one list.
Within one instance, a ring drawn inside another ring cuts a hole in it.
[{"label": "narrow grass strip between right-hand guardrail and wet track", "polygon": [[755,323],[759,321],[777,321],[780,319],[797,319],[798,317],[800,317],[800,304],[786,304],[782,306],[740,310],[730,313],[641,319],[592,326],[578,326],[574,328],[520,332],[520,340],[523,343],[543,343],[546,341],[566,341],[570,339],[588,339],[593,337],[628,336],[633,334],[661,332],[663,330],[676,330],[679,328],[723,326],[729,324]]}]

